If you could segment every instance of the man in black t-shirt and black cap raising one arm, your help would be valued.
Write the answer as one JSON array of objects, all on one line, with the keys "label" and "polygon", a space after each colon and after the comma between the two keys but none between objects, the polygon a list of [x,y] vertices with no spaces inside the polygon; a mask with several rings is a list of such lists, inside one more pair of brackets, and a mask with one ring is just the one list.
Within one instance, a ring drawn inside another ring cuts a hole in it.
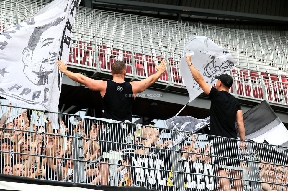
[{"label": "man in black t-shirt and black cap raising one arm", "polygon": [[[210,106],[210,135],[216,135],[226,138],[237,139],[235,129],[235,120],[238,124],[238,131],[241,140],[245,140],[245,128],[243,123],[242,110],[238,100],[229,93],[229,89],[233,84],[233,79],[228,74],[215,76],[218,79],[216,88],[209,86],[203,79],[202,75],[192,65],[191,56],[186,55],[186,62],[195,81],[200,88],[206,93],[211,100]],[[239,166],[239,160],[229,160],[221,158],[221,156],[229,158],[238,158],[237,143],[235,140],[212,138],[214,146],[213,154],[215,154],[215,163],[217,165]],[[240,149],[245,149],[246,143],[240,141]],[[217,157],[220,156],[220,157]],[[217,169],[218,175],[227,177],[225,169]],[[237,172],[232,172],[231,175],[235,178],[240,178]],[[230,182],[226,178],[220,178],[220,187],[223,191],[230,190]],[[241,190],[240,181],[234,181],[235,190]]]}]

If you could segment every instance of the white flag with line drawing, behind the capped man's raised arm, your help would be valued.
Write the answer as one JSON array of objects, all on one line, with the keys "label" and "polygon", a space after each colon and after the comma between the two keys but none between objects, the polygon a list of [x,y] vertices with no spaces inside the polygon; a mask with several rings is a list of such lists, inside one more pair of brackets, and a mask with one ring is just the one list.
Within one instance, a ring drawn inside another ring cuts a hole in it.
[{"label": "white flag with line drawing, behind the capped man's raised arm", "polygon": [[186,54],[191,55],[191,62],[210,86],[217,82],[214,79],[215,76],[223,73],[229,74],[236,66],[236,61],[232,55],[209,38],[190,36],[180,60],[180,72],[188,90],[190,101],[197,98],[203,90],[192,77],[186,62]]}]

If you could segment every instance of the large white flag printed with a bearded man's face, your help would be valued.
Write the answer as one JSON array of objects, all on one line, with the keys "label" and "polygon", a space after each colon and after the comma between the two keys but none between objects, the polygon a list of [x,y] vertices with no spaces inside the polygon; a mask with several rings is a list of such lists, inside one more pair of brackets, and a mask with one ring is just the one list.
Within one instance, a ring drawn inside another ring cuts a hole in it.
[{"label": "large white flag printed with a bearded man's face", "polygon": [[72,21],[79,0],[55,0],[31,19],[0,34],[0,96],[25,108],[58,111]]}]

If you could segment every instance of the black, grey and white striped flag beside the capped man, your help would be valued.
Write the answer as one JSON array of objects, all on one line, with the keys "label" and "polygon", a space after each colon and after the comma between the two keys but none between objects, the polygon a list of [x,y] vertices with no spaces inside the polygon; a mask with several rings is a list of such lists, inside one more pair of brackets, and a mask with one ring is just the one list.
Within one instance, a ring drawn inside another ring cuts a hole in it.
[{"label": "black, grey and white striped flag beside the capped man", "polygon": [[[266,140],[272,145],[287,145],[288,130],[266,100],[243,114],[245,138],[258,143]],[[236,132],[238,132],[238,125]],[[238,133],[239,137],[239,133]]]}]

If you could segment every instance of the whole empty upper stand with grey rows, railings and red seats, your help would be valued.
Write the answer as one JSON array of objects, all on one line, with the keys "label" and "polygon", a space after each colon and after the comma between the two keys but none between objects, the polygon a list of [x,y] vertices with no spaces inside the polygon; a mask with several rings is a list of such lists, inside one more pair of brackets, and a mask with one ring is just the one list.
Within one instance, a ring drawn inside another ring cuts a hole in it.
[{"label": "whole empty upper stand with grey rows, railings and red seats", "polygon": [[[1,13],[4,15],[0,22],[1,30],[3,26],[16,24],[16,20],[21,22],[26,20],[26,17],[31,17],[32,13],[39,11],[48,1],[3,0],[0,3]],[[22,4],[27,7],[22,8]],[[31,11],[28,11],[29,9]],[[22,14],[28,15],[19,17]],[[287,106],[288,41],[283,36],[225,29],[201,23],[198,23],[198,26],[189,26],[179,21],[80,7],[73,24],[68,63],[92,69],[93,76],[97,76],[100,72],[109,73],[114,61],[123,60],[126,62],[127,76],[143,79],[156,72],[154,63],[166,59],[169,67],[159,82],[165,84],[166,89],[171,86],[185,88],[179,61],[182,49],[192,34],[207,36],[228,50],[237,61],[237,71],[253,71],[261,75],[263,73],[264,76],[274,74],[279,80],[265,78],[261,82],[263,77],[258,76],[256,78],[259,78],[259,83],[255,84],[253,80],[249,82],[248,74],[247,78],[238,78],[237,75],[240,74],[234,75],[236,78],[233,88],[236,91],[231,92],[235,96],[252,100],[266,99],[269,103]],[[271,87],[275,85],[278,87]]]}]

